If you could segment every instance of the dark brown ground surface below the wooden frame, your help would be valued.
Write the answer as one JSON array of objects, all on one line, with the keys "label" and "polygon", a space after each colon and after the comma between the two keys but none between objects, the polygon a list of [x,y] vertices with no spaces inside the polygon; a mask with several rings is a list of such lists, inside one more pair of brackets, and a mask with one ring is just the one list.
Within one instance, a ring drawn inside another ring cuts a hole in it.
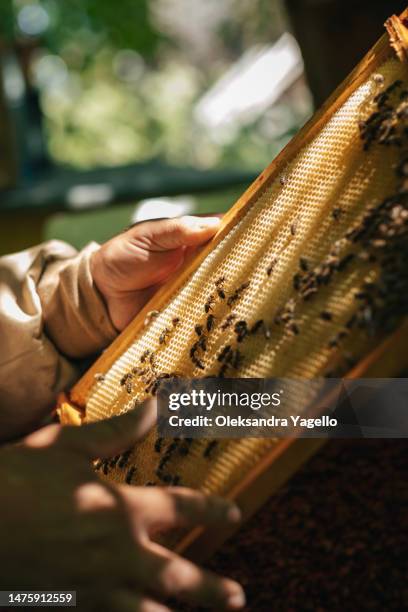
[{"label": "dark brown ground surface below the wooden frame", "polygon": [[334,440],[208,563],[255,611],[408,609],[408,441]]}]

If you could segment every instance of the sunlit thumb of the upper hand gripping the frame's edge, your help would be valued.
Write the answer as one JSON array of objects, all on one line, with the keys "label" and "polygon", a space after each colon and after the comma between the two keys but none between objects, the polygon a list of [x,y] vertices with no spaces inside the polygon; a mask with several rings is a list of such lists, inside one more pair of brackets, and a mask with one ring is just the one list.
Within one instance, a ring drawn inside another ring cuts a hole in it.
[{"label": "sunlit thumb of the upper hand gripping the frame's edge", "polygon": [[134,231],[136,236],[143,234],[149,239],[149,250],[170,251],[207,242],[220,224],[219,217],[184,216],[149,222],[148,227],[139,226]]}]

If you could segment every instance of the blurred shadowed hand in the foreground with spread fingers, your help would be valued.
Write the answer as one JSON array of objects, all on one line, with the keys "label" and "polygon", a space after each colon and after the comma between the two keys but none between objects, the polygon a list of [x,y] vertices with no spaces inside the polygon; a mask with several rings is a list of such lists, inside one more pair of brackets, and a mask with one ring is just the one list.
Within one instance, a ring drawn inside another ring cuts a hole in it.
[{"label": "blurred shadowed hand in the foreground with spread fingers", "polygon": [[241,587],[154,543],[157,531],[239,520],[238,508],[181,487],[98,480],[94,457],[131,447],[155,420],[152,402],[121,417],[50,425],[0,450],[0,588],[77,590],[80,610],[165,612],[171,597],[239,609]]}]

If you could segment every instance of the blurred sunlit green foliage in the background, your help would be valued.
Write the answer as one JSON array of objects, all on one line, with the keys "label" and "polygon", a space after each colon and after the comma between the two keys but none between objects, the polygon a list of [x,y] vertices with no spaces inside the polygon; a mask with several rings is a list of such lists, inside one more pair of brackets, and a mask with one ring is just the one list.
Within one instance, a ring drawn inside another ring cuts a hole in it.
[{"label": "blurred sunlit green foliage in the background", "polygon": [[[265,117],[238,125],[225,140],[194,115],[197,102],[235,60],[282,32],[277,2],[219,0],[218,25],[200,22],[208,46],[201,55],[195,55],[194,37],[186,36],[194,18],[189,0],[170,3],[178,7],[178,13],[170,10],[178,22],[166,30],[157,12],[167,2],[0,0],[0,37],[36,47],[30,74],[56,161],[89,168],[162,158],[177,165],[258,169],[287,140],[265,126]],[[38,40],[24,37],[17,25],[27,5],[40,5],[49,18]],[[304,119],[296,110],[287,114],[283,131]]]}]

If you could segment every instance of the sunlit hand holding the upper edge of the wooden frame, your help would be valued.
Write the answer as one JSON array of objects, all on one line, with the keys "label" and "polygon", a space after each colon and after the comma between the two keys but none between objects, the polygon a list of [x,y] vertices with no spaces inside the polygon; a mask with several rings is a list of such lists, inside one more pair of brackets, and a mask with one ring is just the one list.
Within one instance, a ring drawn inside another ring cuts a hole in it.
[{"label": "sunlit hand holding the upper edge of the wooden frame", "polygon": [[113,325],[121,331],[167,278],[183,264],[189,248],[207,242],[218,217],[180,217],[140,223],[96,251],[91,273]]}]

